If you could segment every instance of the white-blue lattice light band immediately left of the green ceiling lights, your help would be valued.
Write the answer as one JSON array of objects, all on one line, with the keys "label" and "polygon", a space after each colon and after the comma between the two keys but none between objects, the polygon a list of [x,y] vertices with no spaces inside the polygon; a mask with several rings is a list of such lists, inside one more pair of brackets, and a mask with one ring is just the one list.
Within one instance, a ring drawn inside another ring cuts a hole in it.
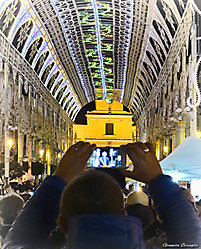
[{"label": "white-blue lattice light band immediately left of the green ceiling lights", "polygon": [[[94,85],[91,77],[91,69],[89,67],[88,59],[86,56],[85,44],[83,42],[81,22],[75,1],[69,0],[63,2],[54,0],[54,4],[63,24],[66,34],[68,48],[71,51],[71,56],[77,67],[79,79],[82,87],[85,90],[88,101],[94,99]],[[74,9],[71,11],[71,9]],[[87,15],[87,12],[86,12]]]}]

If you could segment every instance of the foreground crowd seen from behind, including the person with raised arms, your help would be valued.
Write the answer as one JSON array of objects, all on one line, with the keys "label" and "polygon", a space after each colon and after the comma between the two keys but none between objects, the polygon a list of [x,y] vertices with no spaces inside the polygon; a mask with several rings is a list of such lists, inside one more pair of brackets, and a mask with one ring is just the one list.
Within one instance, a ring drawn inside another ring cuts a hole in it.
[{"label": "foreground crowd seen from behind, including the person with raised arms", "polygon": [[146,193],[124,191],[109,174],[86,169],[95,149],[74,144],[28,201],[1,197],[3,249],[201,248],[199,208],[163,174],[150,143],[122,145],[134,168],[117,169],[145,183]]}]

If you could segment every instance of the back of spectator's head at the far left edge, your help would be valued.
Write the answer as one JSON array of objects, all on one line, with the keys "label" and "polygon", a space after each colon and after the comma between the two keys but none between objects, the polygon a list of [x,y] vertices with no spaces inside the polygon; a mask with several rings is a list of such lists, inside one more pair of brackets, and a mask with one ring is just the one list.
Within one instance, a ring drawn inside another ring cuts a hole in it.
[{"label": "back of spectator's head at the far left edge", "polygon": [[12,224],[21,211],[24,200],[16,193],[3,196],[0,199],[0,217],[4,224]]}]

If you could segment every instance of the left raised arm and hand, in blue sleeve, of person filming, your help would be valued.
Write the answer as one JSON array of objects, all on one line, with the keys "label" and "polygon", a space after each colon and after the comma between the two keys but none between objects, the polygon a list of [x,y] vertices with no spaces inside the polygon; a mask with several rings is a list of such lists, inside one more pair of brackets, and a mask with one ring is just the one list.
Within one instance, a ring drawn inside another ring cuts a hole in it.
[{"label": "left raised arm and hand, in blue sleeve, of person filming", "polygon": [[78,142],[61,159],[54,176],[48,176],[27,202],[9,231],[3,249],[45,248],[50,232],[56,226],[61,193],[84,171],[95,145]]}]

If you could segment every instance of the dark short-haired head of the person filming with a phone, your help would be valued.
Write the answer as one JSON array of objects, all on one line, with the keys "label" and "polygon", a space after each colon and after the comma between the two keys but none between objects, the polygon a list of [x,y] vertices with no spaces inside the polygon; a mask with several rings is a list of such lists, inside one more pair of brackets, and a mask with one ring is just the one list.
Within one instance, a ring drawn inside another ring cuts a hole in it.
[{"label": "dark short-haired head of the person filming with a phone", "polygon": [[116,181],[92,169],[66,186],[60,202],[59,226],[67,232],[70,218],[79,214],[123,215],[123,195]]}]

